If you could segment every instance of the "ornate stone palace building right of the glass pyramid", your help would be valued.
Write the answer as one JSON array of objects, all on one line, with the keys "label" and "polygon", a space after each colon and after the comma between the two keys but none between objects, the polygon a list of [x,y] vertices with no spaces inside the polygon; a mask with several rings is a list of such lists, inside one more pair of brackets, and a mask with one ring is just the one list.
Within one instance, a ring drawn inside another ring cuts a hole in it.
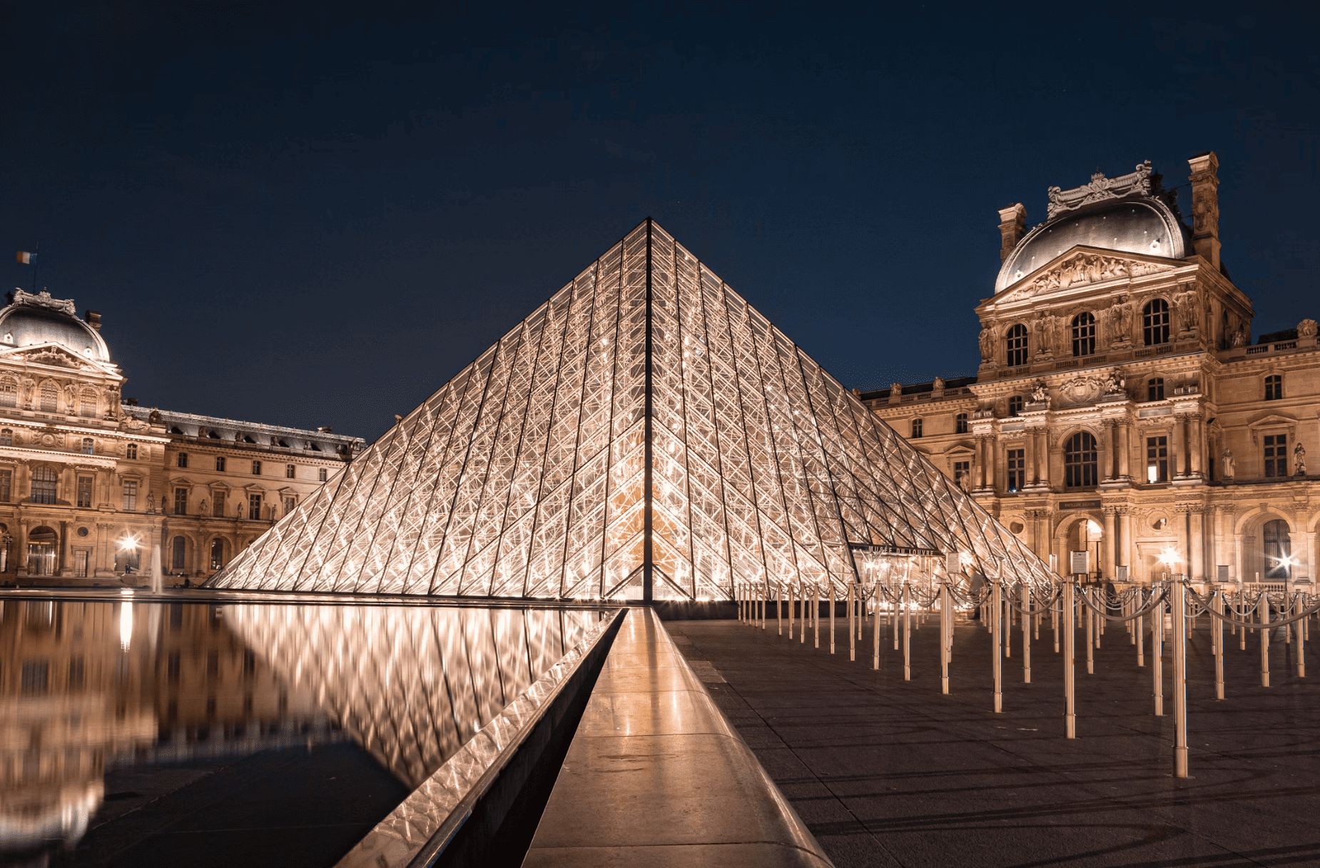
[{"label": "ornate stone palace building right of the glass pyramid", "polygon": [[1043,559],[1090,552],[1093,580],[1307,581],[1316,321],[1253,341],[1220,259],[1218,160],[1189,164],[1191,226],[1148,161],[1049,188],[1031,230],[1023,205],[999,211],[977,375],[861,396]]}]

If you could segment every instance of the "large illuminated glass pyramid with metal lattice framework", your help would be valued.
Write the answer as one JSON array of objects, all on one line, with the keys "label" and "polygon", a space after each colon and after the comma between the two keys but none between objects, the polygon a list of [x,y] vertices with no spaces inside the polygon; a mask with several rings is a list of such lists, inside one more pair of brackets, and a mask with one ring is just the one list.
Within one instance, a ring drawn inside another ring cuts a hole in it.
[{"label": "large illuminated glass pyramid with metal lattice framework", "polygon": [[1048,569],[647,221],[211,584],[727,598],[849,543]]}]

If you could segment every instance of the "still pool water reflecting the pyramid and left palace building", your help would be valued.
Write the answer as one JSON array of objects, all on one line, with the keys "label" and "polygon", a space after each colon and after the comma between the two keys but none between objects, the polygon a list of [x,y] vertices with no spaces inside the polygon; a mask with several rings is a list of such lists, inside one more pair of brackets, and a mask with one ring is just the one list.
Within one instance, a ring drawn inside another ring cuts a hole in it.
[{"label": "still pool water reflecting the pyramid and left palace building", "polygon": [[0,601],[0,864],[334,864],[598,617]]}]

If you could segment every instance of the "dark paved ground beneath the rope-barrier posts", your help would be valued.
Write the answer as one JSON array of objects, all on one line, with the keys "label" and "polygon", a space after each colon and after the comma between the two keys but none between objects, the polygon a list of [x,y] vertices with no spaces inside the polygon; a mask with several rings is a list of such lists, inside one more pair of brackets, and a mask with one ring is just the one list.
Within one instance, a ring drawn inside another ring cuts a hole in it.
[{"label": "dark paved ground beneath the rope-barrier posts", "polygon": [[[892,634],[871,669],[871,633],[849,662],[797,635],[737,621],[665,626],[762,765],[840,868],[853,865],[1320,865],[1320,659],[1296,678],[1295,645],[1228,638],[1228,698],[1214,700],[1205,620],[1188,662],[1191,778],[1172,777],[1170,716],[1152,713],[1150,657],[1114,625],[1086,674],[1078,632],[1077,735],[1063,737],[1063,665],[1048,620],[1022,683],[1020,633],[993,713],[990,637],[957,626],[952,695],[940,694],[939,624],[913,632],[903,680]],[[1148,646],[1147,646],[1148,651]],[[1171,690],[1164,659],[1166,698]]]}]

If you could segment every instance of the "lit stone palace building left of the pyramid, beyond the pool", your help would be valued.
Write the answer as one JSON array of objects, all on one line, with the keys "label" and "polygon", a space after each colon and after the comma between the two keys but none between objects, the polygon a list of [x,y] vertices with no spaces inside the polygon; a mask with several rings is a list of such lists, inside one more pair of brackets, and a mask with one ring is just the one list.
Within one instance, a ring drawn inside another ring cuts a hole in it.
[{"label": "lit stone palace building left of the pyramid, beyond the pool", "polygon": [[0,309],[0,583],[198,581],[362,448],[302,431],[121,400],[125,382],[73,300],[16,289]]}]

